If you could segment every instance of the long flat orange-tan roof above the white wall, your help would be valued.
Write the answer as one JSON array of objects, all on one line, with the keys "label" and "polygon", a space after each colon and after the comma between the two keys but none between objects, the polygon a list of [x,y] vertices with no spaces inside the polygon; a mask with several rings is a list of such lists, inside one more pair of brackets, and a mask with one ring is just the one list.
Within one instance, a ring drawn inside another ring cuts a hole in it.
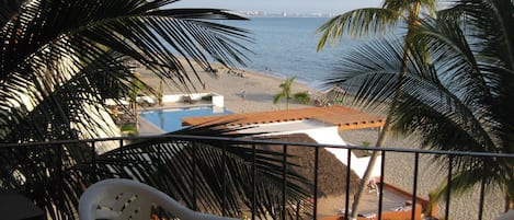
[{"label": "long flat orange-tan roof above the white wall", "polygon": [[251,126],[312,119],[338,126],[340,130],[363,129],[384,126],[385,119],[343,106],[308,107],[288,111],[243,113],[224,116],[190,117],[182,120],[184,126],[226,124],[228,126]]}]

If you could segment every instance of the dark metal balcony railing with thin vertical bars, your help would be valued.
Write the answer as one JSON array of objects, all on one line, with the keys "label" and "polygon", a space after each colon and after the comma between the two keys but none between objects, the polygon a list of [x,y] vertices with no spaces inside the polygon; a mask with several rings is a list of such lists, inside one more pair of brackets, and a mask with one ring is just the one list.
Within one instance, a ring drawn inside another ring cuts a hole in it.
[{"label": "dark metal balcony railing with thin vertical bars", "polygon": [[[413,154],[414,155],[414,162],[413,162],[413,184],[412,184],[412,204],[411,204],[411,207],[412,207],[412,210],[415,210],[416,206],[419,202],[416,202],[416,195],[419,193],[419,189],[418,189],[418,176],[419,176],[419,160],[420,160],[420,154],[432,154],[432,155],[448,155],[448,162],[447,162],[447,174],[445,174],[446,176],[446,181],[447,183],[450,183],[452,181],[452,177],[453,177],[453,163],[454,163],[454,160],[457,158],[457,157],[473,157],[473,158],[496,158],[496,159],[514,159],[514,153],[494,153],[494,152],[465,152],[465,151],[443,151],[443,150],[429,150],[429,149],[410,149],[410,148],[393,148],[393,147],[382,147],[382,148],[375,148],[375,147],[365,147],[365,146],[341,146],[341,144],[319,144],[319,143],[312,143],[312,142],[288,142],[288,141],[281,141],[281,140],[263,140],[263,139],[250,139],[250,138],[230,138],[230,137],[207,137],[207,136],[191,136],[191,135],[174,135],[174,134],[165,134],[165,135],[158,135],[158,136],[141,136],[141,137],[113,137],[113,138],[95,138],[95,139],[76,139],[76,140],[53,140],[53,141],[46,141],[46,142],[25,142],[25,143],[0,143],[0,150],[4,150],[4,149],[9,149],[9,148],[23,148],[23,147],[28,147],[28,148],[33,148],[33,147],[36,147],[36,148],[56,148],[55,152],[57,152],[57,158],[62,158],[62,153],[65,153],[62,151],[61,148],[68,148],[68,149],[71,149],[73,148],[73,143],[88,143],[90,144],[91,147],[91,159],[89,161],[90,165],[91,165],[91,172],[92,173],[95,173],[96,172],[96,169],[95,169],[95,163],[96,163],[96,148],[98,148],[98,143],[100,142],[106,142],[106,141],[119,141],[119,147],[123,147],[124,143],[128,142],[128,141],[125,141],[125,140],[129,140],[132,141],[133,143],[138,143],[140,141],[144,141],[144,140],[159,140],[159,141],[173,141],[173,140],[180,140],[180,141],[192,141],[192,142],[204,142],[204,143],[209,143],[209,142],[218,142],[220,143],[219,146],[222,147],[222,163],[225,166],[225,163],[226,163],[226,158],[227,158],[227,148],[230,146],[230,144],[248,144],[249,147],[252,148],[252,157],[255,157],[255,149],[256,149],[256,146],[258,144],[267,144],[267,146],[282,146],[282,150],[283,150],[283,161],[282,161],[282,164],[283,164],[283,175],[281,176],[282,177],[282,206],[286,206],[286,198],[288,195],[286,195],[286,189],[287,189],[287,182],[286,182],[286,175],[285,173],[287,172],[287,160],[288,158],[286,157],[287,152],[288,152],[288,148],[289,147],[299,147],[299,148],[315,148],[316,151],[315,151],[315,173],[313,175],[316,176],[315,177],[315,181],[313,181],[313,186],[315,188],[318,188],[318,162],[319,162],[319,159],[318,159],[318,153],[319,153],[319,149],[324,149],[324,148],[336,148],[336,149],[347,149],[347,153],[351,153],[353,150],[368,150],[368,151],[379,151],[381,152],[381,165],[380,165],[380,182],[379,183],[384,183],[384,176],[385,176],[385,172],[384,172],[384,169],[385,169],[385,161],[386,161],[386,154],[388,154],[389,152],[398,152],[398,153],[409,153],[409,154]],[[159,142],[159,141],[153,141],[153,142]],[[69,147],[64,147],[65,144],[70,144]],[[83,144],[82,144],[83,146]],[[198,146],[196,144],[193,144],[193,148],[196,149]],[[289,148],[292,149],[292,148]],[[193,150],[193,153],[195,154],[196,153],[196,150]],[[193,175],[194,172],[196,172],[196,159],[195,157],[193,157],[193,162],[192,164],[194,164],[194,169],[193,169]],[[346,162],[346,169],[347,169],[347,172],[346,172],[346,197],[345,197],[345,202],[344,202],[344,206],[345,206],[345,210],[349,210],[349,204],[350,204],[350,198],[349,198],[349,195],[350,195],[350,170],[352,166],[352,164],[354,163],[352,161],[352,158],[351,157],[347,157],[345,160]],[[60,160],[57,161],[58,164],[56,164],[56,166],[62,166],[62,162]],[[256,164],[255,164],[255,158],[252,159],[251,161],[251,176],[253,177],[253,181],[250,182],[251,184],[251,187],[252,187],[252,197],[251,197],[251,200],[250,200],[250,204],[251,204],[251,207],[255,207],[256,206],[256,194],[255,194],[255,178],[258,177],[256,176],[256,172],[255,172],[255,167],[256,167]],[[446,163],[446,162],[445,162]],[[59,172],[57,172],[57,176],[60,176],[61,175],[61,170],[59,170]],[[95,175],[92,175],[92,176],[95,176]],[[220,173],[220,176],[226,176],[226,173],[225,171]],[[222,185],[222,190],[224,190],[224,197],[226,196],[226,180],[225,177],[221,178],[221,185]],[[483,197],[484,197],[484,182],[482,181],[481,183],[481,188],[480,188],[480,200],[479,200],[479,219],[481,219],[481,216],[482,216],[482,209],[483,209]],[[193,181],[193,189],[192,189],[192,194],[193,194],[193,198],[196,200],[196,180]],[[59,185],[56,186],[57,188],[60,188]],[[384,190],[384,187],[380,187],[379,188],[380,193],[380,197],[379,197],[379,201],[378,201],[378,213],[382,213],[382,192]],[[449,216],[449,211],[450,211],[450,202],[449,202],[449,198],[450,198],[450,190],[452,189],[448,189],[446,192],[446,196],[447,196],[447,200],[446,200],[446,204],[445,204],[445,212],[444,212],[444,217],[447,218]],[[58,194],[60,192],[57,192]],[[318,212],[318,209],[317,209],[317,199],[318,199],[318,196],[317,196],[317,190],[315,189],[315,198],[313,198],[313,209],[312,209],[312,215],[316,217],[317,216],[317,212]],[[195,201],[196,202],[196,201]],[[222,200],[222,215],[227,215],[225,212],[225,199]],[[196,210],[197,209],[197,205],[196,204],[193,204],[193,207],[192,207],[193,210]],[[349,212],[345,211],[344,216],[347,217]],[[418,213],[416,213],[418,215]],[[410,213],[411,218],[414,217],[414,212]],[[252,212],[252,219],[255,219],[255,213]],[[285,216],[285,212],[282,212],[282,216],[281,216],[281,219],[286,219],[286,216]]]}]

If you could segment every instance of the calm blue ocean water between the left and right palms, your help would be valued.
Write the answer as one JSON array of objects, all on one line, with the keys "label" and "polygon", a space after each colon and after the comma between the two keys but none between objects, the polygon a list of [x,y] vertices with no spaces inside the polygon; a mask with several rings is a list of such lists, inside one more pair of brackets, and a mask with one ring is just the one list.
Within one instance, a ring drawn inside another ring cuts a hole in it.
[{"label": "calm blue ocean water between the left and right palms", "polygon": [[332,74],[342,55],[355,46],[355,40],[325,46],[317,51],[320,34],[316,30],[329,18],[251,18],[227,24],[252,32],[254,43],[247,46],[250,61],[245,69],[281,78],[297,76],[297,81],[311,88]]}]

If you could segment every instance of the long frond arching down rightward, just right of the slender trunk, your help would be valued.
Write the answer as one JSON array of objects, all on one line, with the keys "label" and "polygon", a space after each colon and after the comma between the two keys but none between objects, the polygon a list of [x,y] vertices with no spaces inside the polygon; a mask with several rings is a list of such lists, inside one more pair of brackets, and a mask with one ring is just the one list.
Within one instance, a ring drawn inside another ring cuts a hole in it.
[{"label": "long frond arching down rightward, just right of the slender trunk", "polygon": [[[437,63],[438,72],[441,72],[438,79],[442,81],[442,86],[446,88],[448,93],[453,93],[456,100],[462,103],[464,108],[470,111],[469,114],[462,115],[469,115],[470,117],[467,118],[475,118],[476,124],[486,126],[480,130],[484,134],[489,132],[488,136],[494,134],[493,130],[502,129],[498,121],[509,119],[498,115],[499,113],[494,109],[498,107],[495,105],[505,105],[504,108],[512,106],[509,102],[495,103],[494,100],[499,96],[509,96],[507,94],[500,95],[501,92],[498,91],[504,88],[502,83],[510,82],[507,78],[503,78],[503,76],[509,76],[506,73],[509,70],[494,66],[498,59],[493,57],[483,59],[477,56],[480,50],[467,43],[468,39],[459,31],[455,21],[438,20],[436,25],[425,23],[424,30],[419,34],[422,37],[414,37],[414,42],[429,45],[431,48],[432,59]],[[492,140],[487,146],[499,146],[499,137],[494,135],[491,138]],[[489,150],[496,151],[498,149]]]}]

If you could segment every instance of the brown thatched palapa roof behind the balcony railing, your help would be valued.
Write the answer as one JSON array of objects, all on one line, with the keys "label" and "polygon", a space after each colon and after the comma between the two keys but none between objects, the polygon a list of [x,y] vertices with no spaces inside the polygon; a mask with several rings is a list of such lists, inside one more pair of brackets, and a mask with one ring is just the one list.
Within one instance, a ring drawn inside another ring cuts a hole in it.
[{"label": "brown thatched palapa roof behind the balcony railing", "polygon": [[[273,139],[286,142],[306,142],[317,143],[313,139],[305,134],[266,136],[259,139]],[[282,152],[281,146],[267,146],[267,148]],[[306,176],[313,183],[315,177],[315,148],[306,148],[298,146],[288,146],[287,153],[295,155],[292,162],[301,165],[301,167],[293,167],[293,170],[302,176]],[[341,163],[334,154],[320,149],[319,151],[319,169],[318,169],[318,195],[342,195],[346,193],[346,165]],[[351,192],[355,192],[358,186],[359,177],[353,171],[350,174]],[[351,194],[352,194],[351,193]]]}]

